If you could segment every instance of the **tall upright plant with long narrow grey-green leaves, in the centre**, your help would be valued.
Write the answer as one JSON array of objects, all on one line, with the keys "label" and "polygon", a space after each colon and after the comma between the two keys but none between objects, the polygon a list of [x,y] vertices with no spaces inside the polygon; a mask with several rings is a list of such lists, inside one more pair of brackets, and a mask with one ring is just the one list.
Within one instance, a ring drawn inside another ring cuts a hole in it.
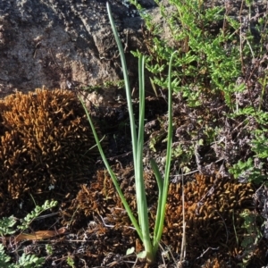
[{"label": "tall upright plant with long narrow grey-green leaves, in the centre", "polygon": [[117,46],[119,47],[120,55],[121,55],[121,64],[124,76],[124,85],[126,89],[126,96],[127,96],[127,103],[129,108],[130,114],[130,131],[131,131],[131,140],[132,140],[132,148],[133,148],[133,163],[134,163],[134,172],[135,172],[135,185],[136,185],[136,198],[137,198],[137,207],[138,207],[138,219],[135,218],[134,214],[130,209],[130,205],[127,203],[123,193],[121,192],[121,188],[118,184],[117,178],[113,173],[113,170],[108,163],[104,151],[101,147],[100,140],[96,135],[96,130],[91,120],[90,114],[86,106],[84,105],[83,101],[80,99],[82,105],[85,108],[85,111],[88,116],[88,121],[90,123],[91,129],[93,131],[94,137],[96,139],[96,145],[98,150],[102,156],[102,159],[105,163],[105,167],[108,170],[113,184],[121,197],[121,202],[124,205],[129,217],[130,221],[132,222],[135,230],[138,232],[138,236],[143,242],[145,250],[138,254],[140,258],[147,258],[147,262],[149,264],[154,263],[155,255],[157,249],[159,247],[160,239],[163,233],[163,222],[164,222],[164,215],[165,215],[165,205],[167,200],[168,194],[168,187],[169,187],[169,174],[170,174],[170,167],[171,167],[171,159],[172,159],[172,58],[175,52],[172,54],[170,59],[169,65],[169,100],[168,100],[168,139],[167,139],[167,153],[166,153],[166,163],[165,163],[165,172],[164,177],[159,171],[155,160],[151,160],[151,166],[155,173],[155,178],[157,180],[158,185],[158,206],[157,212],[155,216],[155,228],[154,234],[150,236],[149,230],[149,218],[148,218],[148,207],[147,207],[147,197],[146,197],[146,188],[143,179],[143,147],[144,147],[144,121],[145,121],[145,82],[144,82],[144,64],[145,64],[145,57],[140,55],[138,58],[138,80],[139,80],[139,115],[138,115],[138,130],[136,128],[136,123],[134,119],[134,113],[132,108],[131,102],[131,91],[130,91],[130,81],[128,77],[127,65],[125,60],[125,55],[123,52],[123,48],[121,46],[121,40],[118,37],[118,32],[115,29],[115,24],[113,22],[113,17],[111,13],[111,9],[109,4],[107,3],[107,11],[109,15],[109,19],[113,29],[113,35],[116,40]]}]

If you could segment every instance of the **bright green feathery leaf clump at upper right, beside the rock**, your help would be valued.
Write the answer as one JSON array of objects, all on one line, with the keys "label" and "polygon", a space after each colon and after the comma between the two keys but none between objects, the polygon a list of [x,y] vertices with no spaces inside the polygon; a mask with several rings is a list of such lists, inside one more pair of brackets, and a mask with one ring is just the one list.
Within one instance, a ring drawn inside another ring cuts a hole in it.
[{"label": "bright green feathery leaf clump at upper right, beside the rock", "polygon": [[[218,94],[222,92],[226,104],[233,108],[231,95],[243,89],[235,84],[241,73],[241,63],[239,47],[232,43],[238,39],[235,31],[239,29],[239,23],[224,16],[222,7],[206,8],[201,1],[172,0],[170,4],[177,11],[172,15],[160,2],[157,3],[171,29],[170,38],[175,45],[168,46],[167,40],[158,38],[161,29],[155,25],[147,58],[147,70],[152,73],[153,83],[167,88],[166,63],[175,48],[178,54],[172,63],[174,92],[187,98],[190,107],[197,107],[201,105],[201,93],[208,88]],[[142,11],[139,5],[138,8]],[[147,16],[145,19],[147,26],[151,25],[152,18]],[[230,31],[223,26],[215,33],[213,28],[217,29],[217,24],[222,24],[222,21],[226,24],[227,20],[234,29]]]}]

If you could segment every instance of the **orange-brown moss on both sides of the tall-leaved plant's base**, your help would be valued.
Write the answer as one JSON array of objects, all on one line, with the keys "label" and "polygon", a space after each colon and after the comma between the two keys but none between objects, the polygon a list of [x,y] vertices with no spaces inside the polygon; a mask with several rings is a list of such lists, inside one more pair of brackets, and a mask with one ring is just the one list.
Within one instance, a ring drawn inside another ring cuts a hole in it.
[{"label": "orange-brown moss on both sides of the tall-leaved plant's base", "polygon": [[[130,170],[130,168],[128,168]],[[132,172],[118,171],[121,178],[121,188],[125,193],[130,207],[136,209],[135,188]],[[147,184],[147,197],[151,226],[154,224],[155,204],[157,201],[157,187],[155,179],[149,172],[145,173]],[[195,261],[193,267],[205,264],[209,257],[219,255],[206,263],[207,267],[218,267],[222,261],[235,264],[235,257],[241,248],[237,244],[234,226],[241,241],[245,230],[242,230],[243,219],[239,214],[245,208],[253,209],[252,194],[254,190],[250,184],[237,183],[234,180],[206,177],[197,175],[195,180],[189,181],[184,187],[187,259]],[[180,183],[171,184],[166,207],[165,226],[163,230],[163,245],[169,247],[173,253],[180,254],[182,239],[182,187]],[[120,253],[123,249],[136,247],[141,250],[141,243],[135,230],[130,229],[131,223],[125,213],[121,200],[113,188],[112,180],[107,172],[99,171],[96,180],[89,186],[84,185],[73,203],[74,209],[87,216],[88,221],[95,222],[94,228],[90,226],[88,233],[102,230],[102,236],[94,240],[103,255],[108,252]],[[101,219],[104,219],[105,223]],[[107,226],[105,226],[107,224]],[[113,230],[113,231],[112,231]],[[118,233],[118,231],[120,232]],[[117,236],[117,239],[115,239]],[[106,238],[105,244],[102,237]],[[115,248],[108,241],[124,241]],[[203,256],[202,254],[207,253]],[[123,254],[123,253],[122,253]],[[98,255],[101,258],[102,255]],[[94,258],[94,256],[92,256]],[[218,265],[218,266],[217,266]],[[223,267],[223,266],[222,266]]]}]

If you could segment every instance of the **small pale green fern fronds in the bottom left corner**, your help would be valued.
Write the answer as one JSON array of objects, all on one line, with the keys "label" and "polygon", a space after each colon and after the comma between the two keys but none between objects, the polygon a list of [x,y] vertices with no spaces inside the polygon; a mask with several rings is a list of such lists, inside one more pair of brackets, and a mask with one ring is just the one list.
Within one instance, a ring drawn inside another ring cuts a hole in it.
[{"label": "small pale green fern fronds in the bottom left corner", "polygon": [[[21,223],[16,226],[16,223],[18,222],[18,219],[14,218],[13,216],[10,217],[4,217],[2,220],[0,220],[0,236],[5,237],[8,235],[13,235],[18,230],[21,231],[21,233],[29,228],[29,224],[33,222],[39,214],[43,213],[47,209],[50,209],[57,205],[56,201],[47,201],[44,205],[37,205],[35,209],[26,215],[24,219],[21,220]],[[48,248],[48,247],[47,247]],[[10,255],[7,255],[5,253],[4,246],[0,244],[0,267],[2,268],[35,268],[35,267],[42,267],[43,264],[45,264],[45,257],[38,257],[36,255],[32,254],[25,254],[23,253],[16,264],[13,264],[12,257]]]}]

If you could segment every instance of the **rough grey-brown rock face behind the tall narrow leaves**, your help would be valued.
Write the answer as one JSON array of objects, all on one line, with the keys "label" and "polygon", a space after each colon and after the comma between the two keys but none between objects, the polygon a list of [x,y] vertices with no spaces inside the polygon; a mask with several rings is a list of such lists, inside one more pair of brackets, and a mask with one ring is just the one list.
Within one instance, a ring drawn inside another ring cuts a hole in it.
[{"label": "rough grey-brown rock face behind the tall narrow leaves", "polygon": [[[129,62],[142,48],[141,18],[127,1],[111,0],[113,18]],[[154,1],[144,1],[147,8]],[[101,0],[0,2],[0,97],[15,90],[69,88],[121,79],[121,63]]]}]

